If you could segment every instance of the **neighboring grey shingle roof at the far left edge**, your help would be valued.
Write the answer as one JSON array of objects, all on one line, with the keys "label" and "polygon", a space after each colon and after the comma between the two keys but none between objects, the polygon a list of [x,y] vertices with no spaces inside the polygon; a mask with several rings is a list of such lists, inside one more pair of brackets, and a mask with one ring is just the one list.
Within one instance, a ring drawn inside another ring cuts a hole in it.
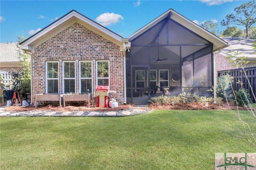
[{"label": "neighboring grey shingle roof at the far left edge", "polygon": [[18,62],[17,43],[0,43],[0,62]]}]

